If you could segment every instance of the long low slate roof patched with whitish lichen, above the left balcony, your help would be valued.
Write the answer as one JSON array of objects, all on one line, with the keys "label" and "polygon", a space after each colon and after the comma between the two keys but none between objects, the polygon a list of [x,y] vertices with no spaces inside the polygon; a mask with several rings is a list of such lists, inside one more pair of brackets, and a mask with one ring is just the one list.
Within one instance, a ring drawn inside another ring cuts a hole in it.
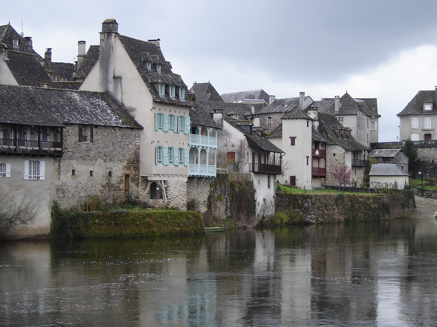
[{"label": "long low slate roof patched with whitish lichen, above the left balcony", "polygon": [[108,93],[0,85],[0,123],[142,129]]}]

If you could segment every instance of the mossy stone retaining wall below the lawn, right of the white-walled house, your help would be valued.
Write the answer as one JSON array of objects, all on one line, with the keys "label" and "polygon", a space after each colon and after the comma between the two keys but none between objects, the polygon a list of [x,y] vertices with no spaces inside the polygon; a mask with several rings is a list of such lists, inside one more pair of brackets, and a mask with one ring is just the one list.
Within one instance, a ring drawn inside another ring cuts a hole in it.
[{"label": "mossy stone retaining wall below the lawn, right of the white-walled house", "polygon": [[295,209],[305,222],[375,221],[407,217],[414,210],[412,191],[385,194],[276,194],[276,210]]}]

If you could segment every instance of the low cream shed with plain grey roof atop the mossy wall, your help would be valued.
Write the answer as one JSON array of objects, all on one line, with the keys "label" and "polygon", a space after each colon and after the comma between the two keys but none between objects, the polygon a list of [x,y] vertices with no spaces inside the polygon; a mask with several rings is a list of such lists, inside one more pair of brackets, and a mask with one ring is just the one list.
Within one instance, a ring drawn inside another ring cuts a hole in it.
[{"label": "low cream shed with plain grey roof atop the mossy wall", "polygon": [[397,188],[403,190],[409,185],[409,174],[396,164],[373,164],[370,173],[370,187]]}]

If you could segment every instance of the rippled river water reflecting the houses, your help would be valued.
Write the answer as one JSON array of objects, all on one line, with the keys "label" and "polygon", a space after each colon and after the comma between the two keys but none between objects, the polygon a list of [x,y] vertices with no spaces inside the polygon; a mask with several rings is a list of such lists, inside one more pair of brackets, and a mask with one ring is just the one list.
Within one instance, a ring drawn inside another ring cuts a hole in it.
[{"label": "rippled river water reflecting the houses", "polygon": [[1,326],[437,326],[437,222],[0,243]]}]

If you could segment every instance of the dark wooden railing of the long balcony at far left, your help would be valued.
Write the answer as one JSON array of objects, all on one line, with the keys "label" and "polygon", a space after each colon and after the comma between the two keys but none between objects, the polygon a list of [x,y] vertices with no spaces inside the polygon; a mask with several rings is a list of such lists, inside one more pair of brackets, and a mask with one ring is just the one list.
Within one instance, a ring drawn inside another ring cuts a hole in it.
[{"label": "dark wooden railing of the long balcony at far left", "polygon": [[0,152],[62,155],[62,143],[52,141],[0,139]]}]

